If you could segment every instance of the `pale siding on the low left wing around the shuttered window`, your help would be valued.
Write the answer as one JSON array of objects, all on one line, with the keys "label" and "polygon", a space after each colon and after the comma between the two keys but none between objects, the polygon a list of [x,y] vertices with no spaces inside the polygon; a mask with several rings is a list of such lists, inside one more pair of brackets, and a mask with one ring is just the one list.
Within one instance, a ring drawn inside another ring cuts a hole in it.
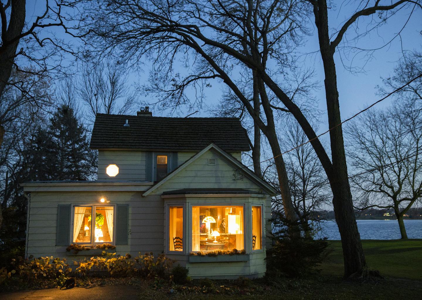
[{"label": "pale siding on the low left wing around the shuttered window", "polygon": [[58,204],[99,204],[103,195],[110,204],[129,205],[129,242],[116,246],[117,253],[163,251],[164,204],[160,196],[142,197],[142,192],[32,192],[27,256],[69,256],[66,246],[56,246]]}]

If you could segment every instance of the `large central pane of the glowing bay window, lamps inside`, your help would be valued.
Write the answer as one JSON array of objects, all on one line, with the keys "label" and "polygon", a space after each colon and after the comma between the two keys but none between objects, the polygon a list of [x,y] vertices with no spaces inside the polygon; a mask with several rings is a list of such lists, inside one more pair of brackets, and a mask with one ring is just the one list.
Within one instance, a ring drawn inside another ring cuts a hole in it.
[{"label": "large central pane of the glowing bay window, lamps inside", "polygon": [[192,251],[244,249],[243,206],[192,206]]}]

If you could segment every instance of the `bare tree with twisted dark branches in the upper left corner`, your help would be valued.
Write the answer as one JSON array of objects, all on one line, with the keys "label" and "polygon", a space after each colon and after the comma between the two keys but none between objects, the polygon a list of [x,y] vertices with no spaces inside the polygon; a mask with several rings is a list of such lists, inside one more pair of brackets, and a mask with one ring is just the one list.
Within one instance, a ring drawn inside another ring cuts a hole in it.
[{"label": "bare tree with twisted dark branches in the upper left corner", "polygon": [[[80,21],[76,9],[78,2],[45,0],[39,15],[28,16],[25,0],[0,1],[0,97],[8,85],[26,93],[27,99],[32,97],[25,90],[24,81],[11,80],[12,70],[40,76],[63,73],[63,67],[66,67],[65,54],[78,53],[72,50],[72,45],[55,37],[49,29],[62,30],[67,35],[76,37],[73,32],[78,30],[78,20]],[[29,69],[30,65],[32,67]],[[0,123],[0,146],[3,127],[4,123]]]}]

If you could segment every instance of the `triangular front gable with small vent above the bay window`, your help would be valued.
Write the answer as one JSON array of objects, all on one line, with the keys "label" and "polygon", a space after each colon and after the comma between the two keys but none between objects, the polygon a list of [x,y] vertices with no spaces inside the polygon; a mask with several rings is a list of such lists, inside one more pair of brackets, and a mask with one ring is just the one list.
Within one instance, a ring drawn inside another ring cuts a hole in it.
[{"label": "triangular front gable with small vent above the bay window", "polygon": [[[215,165],[208,165],[208,159],[215,159]],[[269,195],[276,194],[271,185],[257,177],[232,155],[211,143],[146,190],[143,196],[192,188],[263,190]]]}]

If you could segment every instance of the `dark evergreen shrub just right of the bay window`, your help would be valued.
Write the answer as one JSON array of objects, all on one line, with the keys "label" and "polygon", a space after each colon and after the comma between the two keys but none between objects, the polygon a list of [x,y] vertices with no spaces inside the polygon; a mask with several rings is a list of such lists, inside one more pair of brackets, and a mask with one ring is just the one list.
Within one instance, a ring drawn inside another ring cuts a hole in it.
[{"label": "dark evergreen shrub just right of the bay window", "polygon": [[300,277],[311,272],[327,256],[327,239],[280,236],[268,251],[267,270],[273,268],[288,276]]}]

